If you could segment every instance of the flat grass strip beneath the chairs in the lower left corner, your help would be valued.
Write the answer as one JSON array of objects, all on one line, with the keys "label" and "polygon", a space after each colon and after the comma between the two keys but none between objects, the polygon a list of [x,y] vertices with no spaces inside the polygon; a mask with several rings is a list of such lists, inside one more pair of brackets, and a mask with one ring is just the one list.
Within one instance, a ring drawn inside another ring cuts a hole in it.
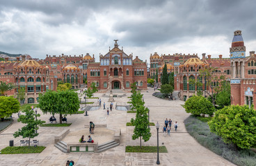
[{"label": "flat grass strip beneath the chairs in the lower left corner", "polygon": [[1,149],[1,154],[38,154],[41,153],[45,147],[6,147]]}]

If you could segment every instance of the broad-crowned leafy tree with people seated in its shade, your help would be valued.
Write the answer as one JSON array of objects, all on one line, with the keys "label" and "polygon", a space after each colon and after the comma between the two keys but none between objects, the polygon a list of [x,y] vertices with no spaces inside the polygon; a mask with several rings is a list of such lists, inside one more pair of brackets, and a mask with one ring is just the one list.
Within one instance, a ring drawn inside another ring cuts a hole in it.
[{"label": "broad-crowned leafy tree with people seated in its shade", "polygon": [[40,94],[38,107],[43,113],[60,114],[62,123],[63,114],[77,113],[79,109],[79,97],[74,91],[47,91]]}]

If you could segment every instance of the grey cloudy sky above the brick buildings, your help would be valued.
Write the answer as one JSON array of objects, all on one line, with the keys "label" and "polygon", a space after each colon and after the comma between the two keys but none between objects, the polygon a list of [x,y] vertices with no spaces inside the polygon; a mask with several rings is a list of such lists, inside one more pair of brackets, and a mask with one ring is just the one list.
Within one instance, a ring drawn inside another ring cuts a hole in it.
[{"label": "grey cloudy sky above the brick buildings", "polygon": [[0,2],[0,50],[45,55],[206,53],[229,57],[234,30],[256,50],[255,0],[8,0]]}]

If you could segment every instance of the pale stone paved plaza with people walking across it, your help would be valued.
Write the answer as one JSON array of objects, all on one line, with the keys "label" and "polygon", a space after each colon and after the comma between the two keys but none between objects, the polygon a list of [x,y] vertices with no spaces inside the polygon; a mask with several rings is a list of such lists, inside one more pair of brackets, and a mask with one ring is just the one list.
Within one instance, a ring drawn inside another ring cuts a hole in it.
[{"label": "pale stone paved plaza with people walking across it", "polygon": [[[189,116],[180,104],[184,102],[180,100],[162,100],[152,96],[153,89],[148,88],[147,91],[142,92],[144,95],[145,105],[150,109],[150,122],[157,123],[163,127],[163,122],[166,118],[171,118],[173,123],[178,122],[179,127],[177,132],[171,129],[170,136],[163,136],[159,133],[159,145],[165,145],[168,153],[160,154],[161,165],[234,165],[229,161],[221,158],[220,156],[202,147],[196,142],[189,133],[186,132],[184,120]],[[115,102],[127,103],[131,93],[127,93],[126,97],[115,98]],[[105,97],[104,97],[105,96]],[[95,97],[102,99],[102,104],[106,102],[109,107],[109,98],[106,98],[104,93],[95,93]],[[95,100],[97,101],[97,100]],[[115,105],[114,102],[114,105]],[[49,114],[44,115],[41,111],[40,119],[49,123]],[[13,154],[13,155],[0,155],[0,165],[65,165],[67,160],[74,160],[75,165],[156,165],[157,154],[145,153],[125,153],[125,146],[139,145],[139,140],[132,140],[134,127],[126,127],[126,122],[131,118],[135,118],[135,113],[127,113],[126,111],[118,111],[113,109],[110,111],[109,116],[106,110],[101,107],[96,111],[88,111],[89,116],[83,114],[68,115],[68,122],[72,122],[70,127],[40,127],[38,132],[40,135],[35,138],[40,141],[40,145],[46,146],[46,149],[40,154]],[[15,146],[19,146],[19,140],[22,138],[13,138],[13,133],[22,127],[22,123],[17,122],[17,115],[13,115],[13,124],[0,133],[0,149],[7,147],[9,140],[14,140]],[[58,115],[56,115],[58,120]],[[121,141],[118,147],[109,149],[102,153],[72,153],[65,154],[59,149],[54,147],[54,136],[61,133],[64,129],[70,129],[72,136],[64,138],[67,142],[78,141],[81,135],[88,135],[88,129],[84,128],[84,124],[89,124],[90,121],[95,124],[106,124],[107,129],[95,128],[102,130],[102,133],[97,136],[100,140],[96,139],[95,142],[102,143],[102,139],[111,140],[111,130],[121,129]],[[160,129],[161,131],[161,129]],[[157,129],[151,127],[152,137],[147,142],[142,142],[142,145],[157,145]],[[106,133],[104,135],[104,133]]]}]

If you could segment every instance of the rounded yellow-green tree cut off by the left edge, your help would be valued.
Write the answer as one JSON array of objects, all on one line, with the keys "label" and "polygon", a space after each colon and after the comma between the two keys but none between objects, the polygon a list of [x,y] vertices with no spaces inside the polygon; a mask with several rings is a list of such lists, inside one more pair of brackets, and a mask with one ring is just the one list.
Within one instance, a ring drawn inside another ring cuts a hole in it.
[{"label": "rounded yellow-green tree cut off by the left edge", "polygon": [[0,118],[10,117],[13,113],[19,111],[19,101],[13,96],[0,96]]}]

